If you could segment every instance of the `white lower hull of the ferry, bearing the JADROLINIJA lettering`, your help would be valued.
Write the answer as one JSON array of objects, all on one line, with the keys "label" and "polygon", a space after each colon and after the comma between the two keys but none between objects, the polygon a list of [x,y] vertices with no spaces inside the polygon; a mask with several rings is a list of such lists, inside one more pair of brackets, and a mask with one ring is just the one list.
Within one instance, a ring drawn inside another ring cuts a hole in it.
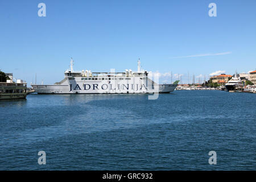
[{"label": "white lower hull of the ferry, bearing the JADROLINIJA lettering", "polygon": [[[148,79],[149,80],[149,79]],[[151,83],[151,82],[150,82]],[[111,94],[111,93],[170,93],[177,85],[148,85],[146,82],[64,82],[63,85],[31,85],[38,94]]]}]

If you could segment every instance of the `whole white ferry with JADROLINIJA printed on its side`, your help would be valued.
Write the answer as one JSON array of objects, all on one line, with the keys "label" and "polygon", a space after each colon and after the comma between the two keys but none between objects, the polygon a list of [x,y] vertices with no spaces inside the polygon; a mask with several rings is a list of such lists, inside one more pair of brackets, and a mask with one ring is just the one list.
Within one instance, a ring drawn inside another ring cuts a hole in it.
[{"label": "whole white ferry with JADROLINIJA printed on its side", "polygon": [[64,79],[53,85],[31,84],[38,94],[117,94],[117,93],[170,93],[179,81],[173,84],[157,84],[147,71],[126,69],[125,72],[91,72],[90,70],[73,71],[73,59],[70,69],[64,72]]}]

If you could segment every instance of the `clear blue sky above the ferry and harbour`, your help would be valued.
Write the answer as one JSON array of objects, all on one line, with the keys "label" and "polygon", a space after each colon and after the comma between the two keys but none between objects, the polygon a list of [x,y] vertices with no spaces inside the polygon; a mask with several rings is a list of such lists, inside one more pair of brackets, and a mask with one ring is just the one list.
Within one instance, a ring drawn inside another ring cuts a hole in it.
[{"label": "clear blue sky above the ferry and harbour", "polygon": [[[38,4],[46,4],[46,17]],[[209,3],[217,17],[208,15]],[[68,69],[192,77],[256,68],[256,1],[0,1],[0,69],[52,84]],[[191,78],[192,79],[192,78]],[[197,82],[198,78],[196,78]]]}]

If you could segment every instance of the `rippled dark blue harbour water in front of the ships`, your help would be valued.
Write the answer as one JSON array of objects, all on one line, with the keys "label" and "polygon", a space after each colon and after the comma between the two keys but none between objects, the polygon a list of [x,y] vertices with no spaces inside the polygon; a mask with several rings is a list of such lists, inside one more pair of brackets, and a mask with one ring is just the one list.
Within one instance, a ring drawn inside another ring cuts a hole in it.
[{"label": "rippled dark blue harbour water in front of the ships", "polygon": [[[0,101],[0,169],[255,170],[256,94],[175,91]],[[38,152],[46,152],[46,165]],[[209,151],[217,165],[209,165]]]}]

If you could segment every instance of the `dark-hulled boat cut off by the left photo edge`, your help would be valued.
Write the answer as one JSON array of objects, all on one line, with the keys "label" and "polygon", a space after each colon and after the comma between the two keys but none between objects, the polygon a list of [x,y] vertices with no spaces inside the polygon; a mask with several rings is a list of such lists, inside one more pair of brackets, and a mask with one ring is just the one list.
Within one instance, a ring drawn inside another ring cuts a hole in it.
[{"label": "dark-hulled boat cut off by the left photo edge", "polygon": [[23,80],[14,82],[12,73],[9,73],[9,76],[11,76],[10,80],[0,82],[0,100],[26,98],[27,83],[23,82]]}]

